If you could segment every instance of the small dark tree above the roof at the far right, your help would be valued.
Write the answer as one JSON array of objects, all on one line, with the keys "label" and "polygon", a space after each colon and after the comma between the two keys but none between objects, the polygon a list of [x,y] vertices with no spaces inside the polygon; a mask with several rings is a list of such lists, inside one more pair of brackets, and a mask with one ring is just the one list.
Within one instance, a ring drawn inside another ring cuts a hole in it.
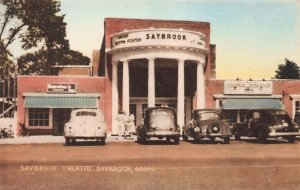
[{"label": "small dark tree above the roof at the far right", "polygon": [[296,63],[285,59],[285,64],[279,64],[275,71],[276,79],[299,79],[299,67]]}]

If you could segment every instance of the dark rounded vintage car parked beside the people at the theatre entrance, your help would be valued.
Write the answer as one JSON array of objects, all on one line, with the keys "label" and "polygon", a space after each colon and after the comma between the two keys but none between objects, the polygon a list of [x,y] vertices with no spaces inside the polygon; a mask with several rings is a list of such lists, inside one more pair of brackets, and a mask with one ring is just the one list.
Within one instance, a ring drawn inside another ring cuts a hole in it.
[{"label": "dark rounded vintage car parked beside the people at the theatre entrance", "polygon": [[177,125],[176,111],[171,107],[151,107],[144,110],[144,121],[137,127],[137,141],[146,143],[147,139],[157,137],[172,139],[179,144],[179,127]]}]

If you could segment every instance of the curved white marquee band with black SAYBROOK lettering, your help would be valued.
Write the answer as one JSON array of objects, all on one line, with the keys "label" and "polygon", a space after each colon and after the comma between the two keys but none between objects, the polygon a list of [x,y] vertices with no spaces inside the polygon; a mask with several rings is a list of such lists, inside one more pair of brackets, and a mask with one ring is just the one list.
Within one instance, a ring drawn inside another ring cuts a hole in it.
[{"label": "curved white marquee band with black SAYBROOK lettering", "polygon": [[205,48],[205,36],[199,32],[171,29],[128,31],[112,37],[112,49],[136,46]]}]

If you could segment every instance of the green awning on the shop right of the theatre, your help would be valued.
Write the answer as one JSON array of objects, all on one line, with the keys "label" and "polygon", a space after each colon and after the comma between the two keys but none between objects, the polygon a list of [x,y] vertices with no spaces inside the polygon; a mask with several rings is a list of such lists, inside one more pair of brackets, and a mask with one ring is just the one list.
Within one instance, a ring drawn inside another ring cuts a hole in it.
[{"label": "green awning on the shop right of the theatre", "polygon": [[224,110],[248,110],[248,109],[284,109],[283,104],[278,99],[226,99],[223,101],[221,109]]}]

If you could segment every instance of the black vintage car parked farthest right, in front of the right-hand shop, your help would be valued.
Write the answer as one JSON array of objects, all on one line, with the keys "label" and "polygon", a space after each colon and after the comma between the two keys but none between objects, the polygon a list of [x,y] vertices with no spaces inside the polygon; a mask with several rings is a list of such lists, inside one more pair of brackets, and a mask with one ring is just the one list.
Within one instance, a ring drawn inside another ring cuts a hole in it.
[{"label": "black vintage car parked farthest right, in front of the right-hand shop", "polygon": [[256,137],[265,142],[269,137],[283,137],[295,142],[299,127],[284,110],[250,110],[243,123],[233,125],[236,140],[241,136]]}]

